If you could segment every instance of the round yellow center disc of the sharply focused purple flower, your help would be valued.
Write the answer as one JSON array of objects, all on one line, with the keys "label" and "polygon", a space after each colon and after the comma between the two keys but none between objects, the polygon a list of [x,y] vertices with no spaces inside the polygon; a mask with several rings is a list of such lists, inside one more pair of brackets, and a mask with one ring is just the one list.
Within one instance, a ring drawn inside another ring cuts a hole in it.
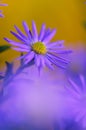
[{"label": "round yellow center disc of the sharply focused purple flower", "polygon": [[46,54],[47,49],[46,46],[42,42],[36,42],[32,45],[33,51],[35,51],[38,54]]}]

